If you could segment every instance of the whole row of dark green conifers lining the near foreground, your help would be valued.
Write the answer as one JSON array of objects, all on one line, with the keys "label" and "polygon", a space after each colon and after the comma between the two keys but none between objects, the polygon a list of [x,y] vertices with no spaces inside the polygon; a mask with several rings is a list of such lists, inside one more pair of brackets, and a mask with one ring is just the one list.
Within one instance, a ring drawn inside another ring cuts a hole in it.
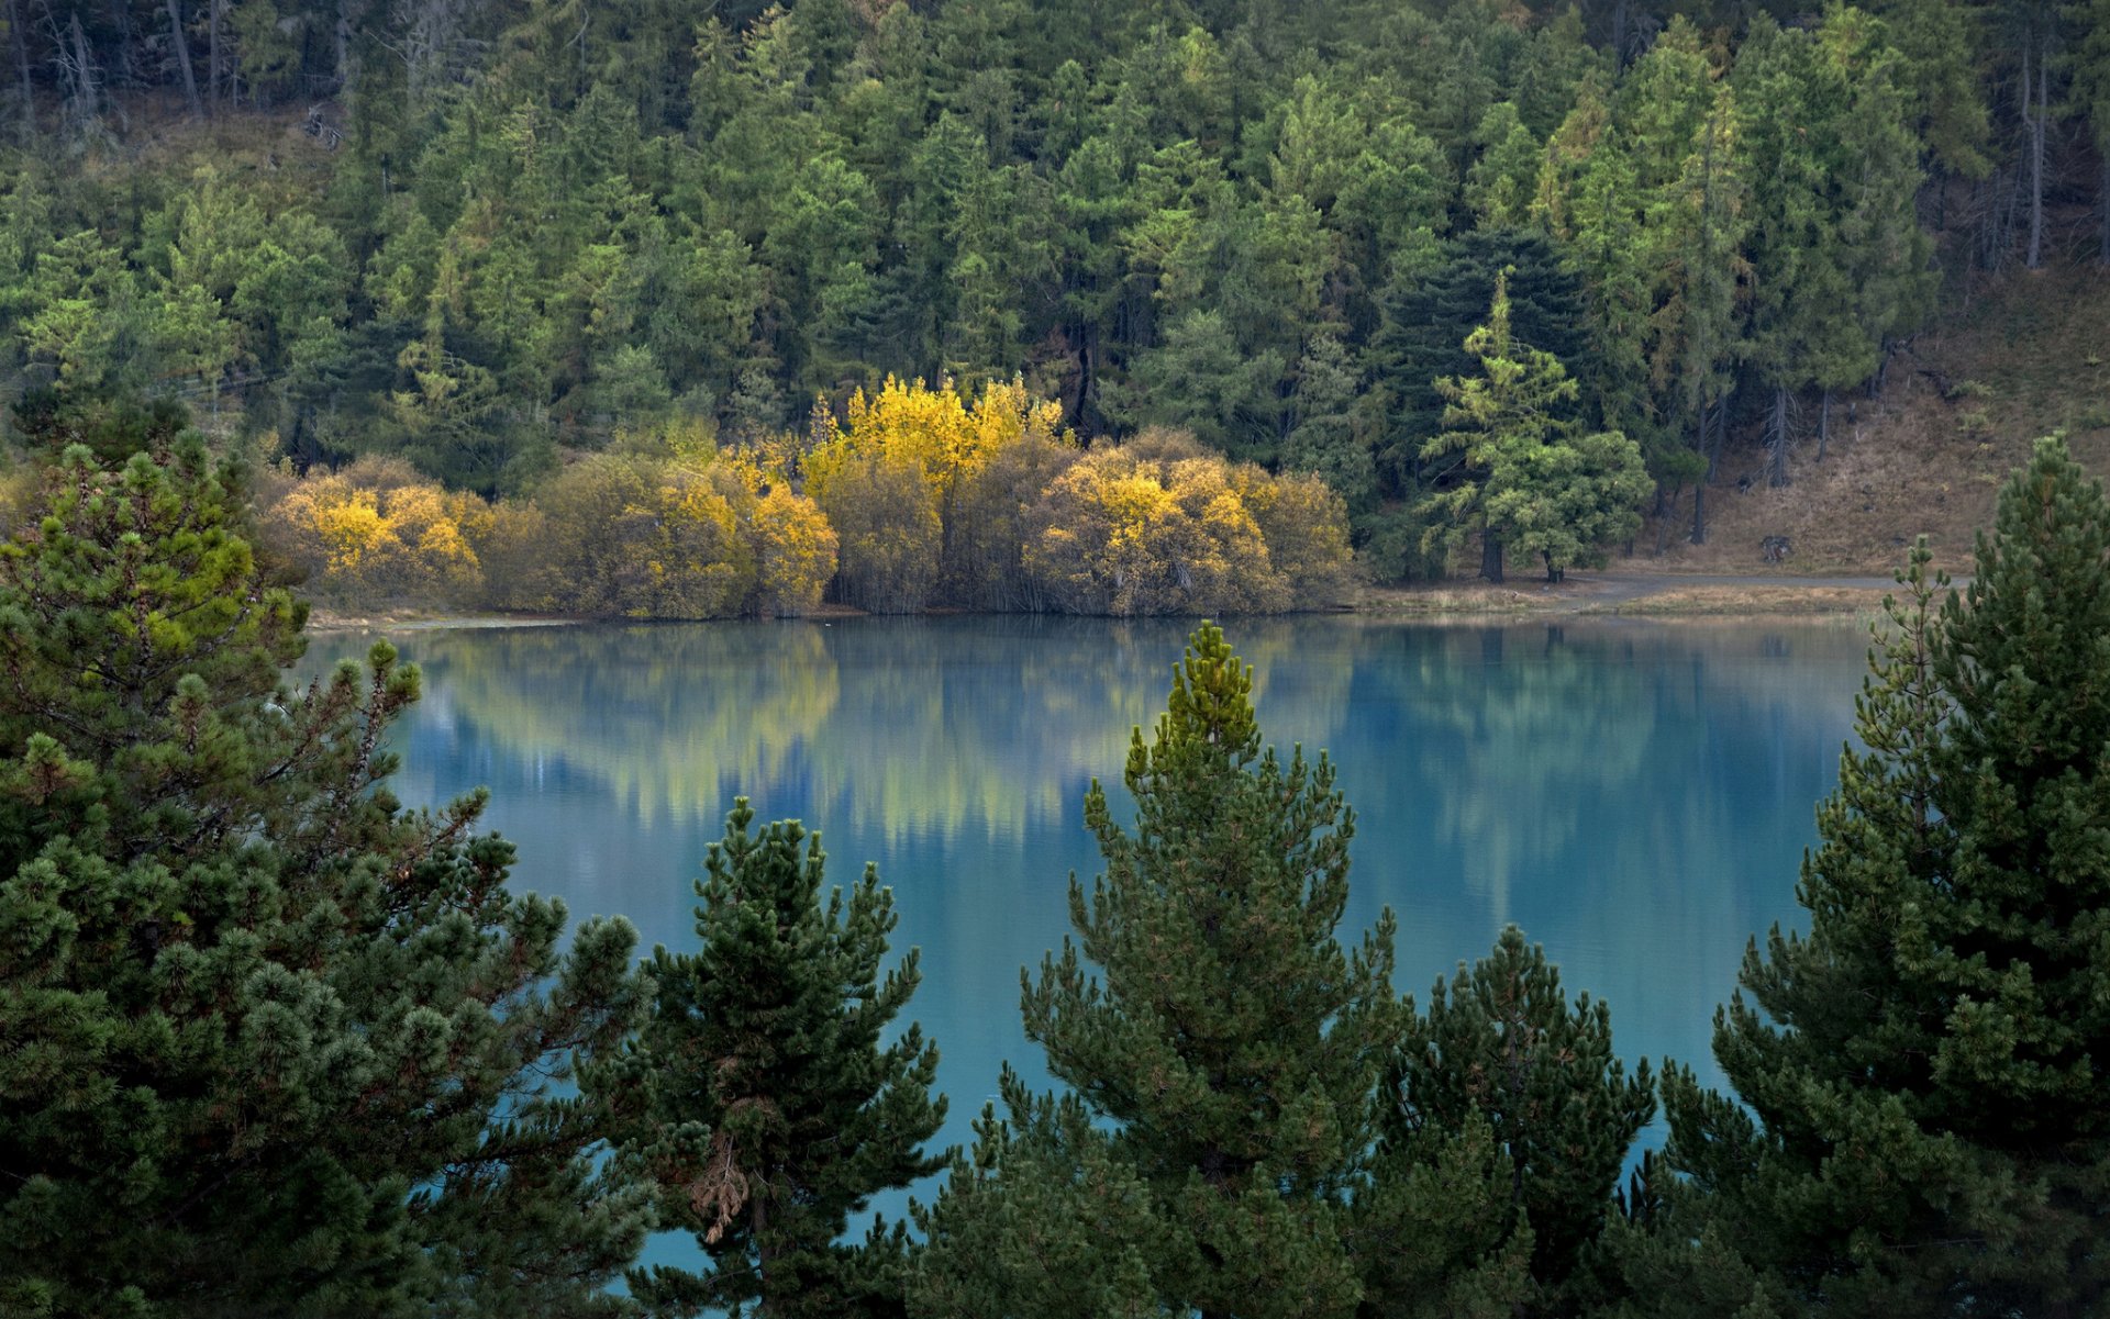
[{"label": "whole row of dark green conifers lining the near foreground", "polygon": [[[186,434],[61,472],[0,546],[11,1313],[2110,1298],[2110,504],[2057,440],[1969,590],[1924,548],[1899,573],[1808,933],[1753,940],[1718,1016],[1728,1094],[1677,1060],[1629,1072],[1616,1005],[1570,999],[1517,929],[1397,997],[1393,917],[1340,929],[1334,767],[1264,748],[1253,670],[1203,624],[1129,740],[1133,818],[1087,794],[1104,870],[1025,976],[1059,1089],[1004,1075],[966,1150],[926,1144],[943,1041],[888,1030],[920,971],[888,965],[869,868],[829,891],[819,843],[741,803],[694,946],[635,963],[620,917],[565,942],[561,906],[509,893],[481,794],[388,792],[414,668],[376,645],[283,685],[304,607],[249,548],[238,466]],[[1658,1106],[1669,1142],[1627,1176]],[[937,1169],[914,1235],[844,1235]],[[654,1226],[705,1264],[635,1268]]]}]

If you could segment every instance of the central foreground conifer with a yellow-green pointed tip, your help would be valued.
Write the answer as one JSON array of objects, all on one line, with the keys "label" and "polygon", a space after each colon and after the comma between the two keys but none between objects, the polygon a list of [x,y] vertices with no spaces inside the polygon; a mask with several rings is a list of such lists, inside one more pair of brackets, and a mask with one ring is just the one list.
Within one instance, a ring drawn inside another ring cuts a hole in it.
[{"label": "central foreground conifer with a yellow-green pointed tip", "polygon": [[[1488,1184],[1485,1140],[1471,1176],[1473,1150],[1443,1176],[1369,1176],[1399,1028],[1393,921],[1355,952],[1336,942],[1355,818],[1323,754],[1262,752],[1251,683],[1203,624],[1154,737],[1131,740],[1133,828],[1091,786],[1106,872],[1072,879],[1078,938],[1023,984],[1025,1035],[1074,1094],[1006,1083],[1011,1131],[985,1117],[926,1218],[916,1313],[1466,1313],[1515,1290],[1485,1205],[1452,1195]],[[1078,1260],[1085,1308],[1061,1308],[1049,1258]]]}]

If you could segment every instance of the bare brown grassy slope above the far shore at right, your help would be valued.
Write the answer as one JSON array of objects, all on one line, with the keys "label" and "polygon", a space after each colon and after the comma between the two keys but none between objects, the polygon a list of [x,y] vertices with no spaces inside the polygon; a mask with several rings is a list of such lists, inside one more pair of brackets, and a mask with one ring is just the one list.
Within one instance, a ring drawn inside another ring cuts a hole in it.
[{"label": "bare brown grassy slope above the far shore at right", "polygon": [[[2011,272],[1952,297],[1937,324],[1891,362],[1882,398],[1834,398],[1831,442],[1817,464],[1810,432],[1789,455],[1791,485],[1766,487],[1756,432],[1732,434],[1707,493],[1709,537],[1686,542],[1692,497],[1620,567],[1713,573],[1888,573],[1924,533],[1935,563],[1969,569],[1994,495],[2036,436],[2066,430],[2074,453],[2110,470],[2110,274],[2097,268]],[[1739,491],[1739,480],[1749,487]],[[1794,550],[1766,565],[1760,544]]]}]

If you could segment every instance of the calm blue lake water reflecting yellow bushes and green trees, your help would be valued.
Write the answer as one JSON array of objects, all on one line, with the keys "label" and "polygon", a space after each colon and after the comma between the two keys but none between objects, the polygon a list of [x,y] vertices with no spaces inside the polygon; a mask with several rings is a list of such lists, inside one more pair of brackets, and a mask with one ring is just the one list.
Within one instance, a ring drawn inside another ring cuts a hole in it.
[{"label": "calm blue lake water reflecting yellow bushes and green trees", "polygon": [[[1000,1060],[1044,1079],[1019,967],[1068,929],[1097,851],[1082,799],[1118,784],[1165,704],[1184,622],[1040,617],[405,632],[424,702],[397,792],[492,788],[515,883],[574,919],[692,944],[705,843],[734,794],[876,862],[912,1003],[943,1058],[943,1142]],[[1629,1060],[1718,1077],[1709,1020],[1745,940],[1798,923],[1796,866],[1838,777],[1865,634],[1850,626],[1234,622],[1268,740],[1325,748],[1357,809],[1344,936],[1399,914],[1401,990],[1515,921],[1570,990],[1610,1001]],[[323,636],[306,668],[361,653]]]}]

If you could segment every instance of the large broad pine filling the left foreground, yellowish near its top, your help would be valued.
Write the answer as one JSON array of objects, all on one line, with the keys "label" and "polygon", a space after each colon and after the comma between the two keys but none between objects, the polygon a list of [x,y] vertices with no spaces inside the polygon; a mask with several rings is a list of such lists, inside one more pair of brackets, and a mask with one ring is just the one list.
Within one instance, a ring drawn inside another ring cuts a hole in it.
[{"label": "large broad pine filling the left foreground, yellowish near its top", "polygon": [[595,1313],[639,1197],[549,1091],[633,933],[384,780],[418,672],[287,689],[238,468],[72,447],[0,546],[0,1311]]}]

